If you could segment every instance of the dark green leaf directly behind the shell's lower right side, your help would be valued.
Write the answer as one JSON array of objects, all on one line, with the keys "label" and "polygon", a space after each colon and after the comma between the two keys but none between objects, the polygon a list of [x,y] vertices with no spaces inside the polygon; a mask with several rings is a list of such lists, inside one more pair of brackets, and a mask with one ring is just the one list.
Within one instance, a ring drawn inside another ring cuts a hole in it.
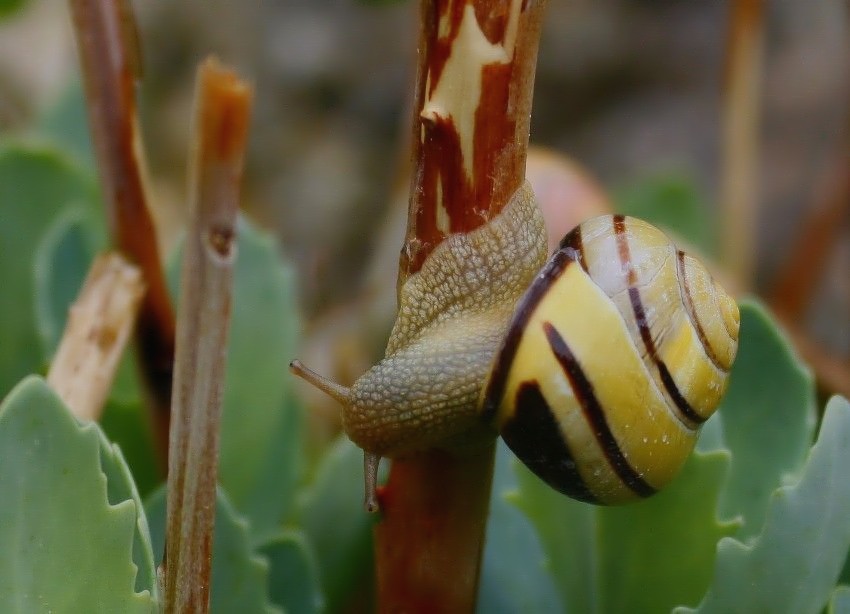
[{"label": "dark green leaf directly behind the shell's lower right side", "polygon": [[741,303],[738,357],[720,408],[732,452],[721,515],[741,515],[738,537],[758,533],[773,490],[798,472],[815,426],[811,373],[758,303]]}]

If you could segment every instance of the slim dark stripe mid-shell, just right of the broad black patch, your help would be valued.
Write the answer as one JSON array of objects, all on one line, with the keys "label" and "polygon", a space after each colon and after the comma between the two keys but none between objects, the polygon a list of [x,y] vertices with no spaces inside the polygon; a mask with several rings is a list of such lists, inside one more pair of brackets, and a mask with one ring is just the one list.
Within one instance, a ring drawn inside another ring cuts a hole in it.
[{"label": "slim dark stripe mid-shell, just right of the broad black patch", "polygon": [[581,405],[584,419],[596,436],[596,441],[605,454],[605,458],[608,459],[614,473],[635,494],[641,497],[648,497],[654,494],[656,492],[655,488],[644,481],[640,474],[626,460],[623,451],[617,443],[617,438],[614,437],[611,427],[608,426],[608,420],[596,398],[593,384],[587,379],[587,376],[584,374],[566,341],[564,341],[564,338],[561,337],[561,334],[550,322],[543,323],[543,330],[546,333],[546,339],[549,341],[549,347],[552,348],[552,352],[561,365],[567,381],[570,382],[576,400]]}]

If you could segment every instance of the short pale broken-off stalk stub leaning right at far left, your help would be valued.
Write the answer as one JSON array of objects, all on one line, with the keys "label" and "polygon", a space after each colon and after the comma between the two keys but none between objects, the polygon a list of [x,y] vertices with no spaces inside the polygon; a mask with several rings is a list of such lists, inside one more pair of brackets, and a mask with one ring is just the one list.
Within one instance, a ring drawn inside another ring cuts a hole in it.
[{"label": "short pale broken-off stalk stub leaning right at far left", "polygon": [[47,382],[82,420],[97,420],[103,411],[144,290],[137,267],[106,253],[92,264],[71,306]]}]

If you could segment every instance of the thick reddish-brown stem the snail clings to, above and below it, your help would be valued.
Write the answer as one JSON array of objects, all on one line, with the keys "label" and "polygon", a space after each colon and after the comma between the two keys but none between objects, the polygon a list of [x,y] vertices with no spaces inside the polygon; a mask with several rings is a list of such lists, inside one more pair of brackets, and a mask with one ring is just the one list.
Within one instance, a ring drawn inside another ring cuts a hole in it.
[{"label": "thick reddish-brown stem the snail clings to, above and below it", "polygon": [[[399,285],[452,233],[498,214],[525,176],[543,0],[423,0],[414,164]],[[383,612],[474,609],[493,444],[392,464],[376,527]]]}]

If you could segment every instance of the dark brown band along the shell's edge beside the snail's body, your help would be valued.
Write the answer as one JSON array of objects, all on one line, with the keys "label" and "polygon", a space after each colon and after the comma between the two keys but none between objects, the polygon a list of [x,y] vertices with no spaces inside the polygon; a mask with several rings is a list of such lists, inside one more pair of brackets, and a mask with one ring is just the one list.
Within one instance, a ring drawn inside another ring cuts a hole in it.
[{"label": "dark brown band along the shell's edge beside the snail's body", "polygon": [[549,287],[561,276],[566,270],[567,265],[572,261],[571,255],[565,250],[555,252],[548,264],[537,274],[537,277],[531,282],[529,289],[519,300],[513,318],[508,325],[508,332],[505,335],[505,340],[502,342],[502,347],[496,353],[496,361],[493,364],[490,381],[487,384],[487,390],[484,394],[481,416],[487,422],[495,417],[502,397],[505,394],[505,387],[508,384],[508,374],[510,373],[519,343],[525,333],[525,328],[528,325],[528,320],[531,318],[537,305],[543,300]]}]

